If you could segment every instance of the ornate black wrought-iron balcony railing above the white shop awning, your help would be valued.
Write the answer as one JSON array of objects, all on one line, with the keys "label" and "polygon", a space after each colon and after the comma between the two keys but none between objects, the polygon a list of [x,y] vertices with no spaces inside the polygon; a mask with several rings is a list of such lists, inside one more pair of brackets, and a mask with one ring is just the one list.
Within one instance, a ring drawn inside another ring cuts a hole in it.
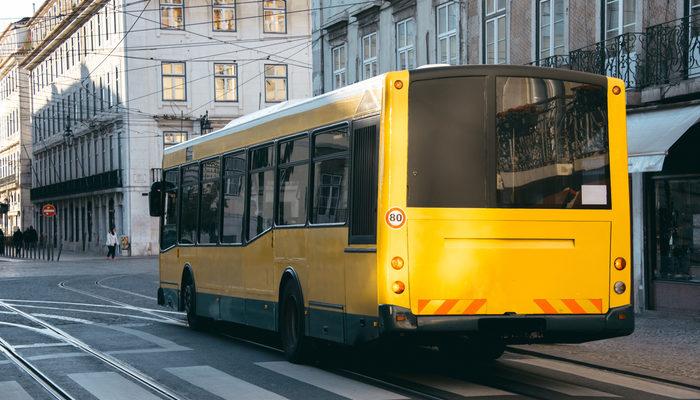
[{"label": "ornate black wrought-iron balcony railing above the white shop awning", "polygon": [[700,77],[700,14],[629,32],[534,65],[614,76],[628,89]]}]

